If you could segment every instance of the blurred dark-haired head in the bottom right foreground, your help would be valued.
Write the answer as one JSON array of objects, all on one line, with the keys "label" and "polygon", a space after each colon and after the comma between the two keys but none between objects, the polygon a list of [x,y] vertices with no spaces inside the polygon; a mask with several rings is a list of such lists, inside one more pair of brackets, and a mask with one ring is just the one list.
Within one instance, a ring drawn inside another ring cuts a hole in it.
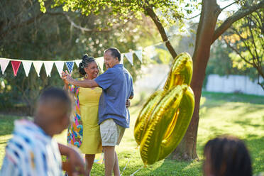
[{"label": "blurred dark-haired head in the bottom right foreground", "polygon": [[251,157],[246,145],[233,136],[219,136],[204,146],[205,160],[209,160],[211,175],[251,176]]}]

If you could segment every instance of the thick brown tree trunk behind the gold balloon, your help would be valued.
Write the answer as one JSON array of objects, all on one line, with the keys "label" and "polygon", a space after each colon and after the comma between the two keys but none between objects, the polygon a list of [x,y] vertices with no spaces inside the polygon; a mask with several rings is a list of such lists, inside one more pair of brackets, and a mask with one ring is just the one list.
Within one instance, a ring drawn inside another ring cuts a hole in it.
[{"label": "thick brown tree trunk behind the gold balloon", "polygon": [[203,0],[202,13],[197,29],[194,55],[194,70],[191,87],[194,91],[195,106],[192,121],[177,148],[169,156],[177,160],[193,160],[198,158],[196,152],[197,130],[199,123],[199,105],[202,93],[202,84],[204,82],[205,70],[210,55],[211,40],[214,36],[214,28],[221,9],[216,4],[216,0]]}]

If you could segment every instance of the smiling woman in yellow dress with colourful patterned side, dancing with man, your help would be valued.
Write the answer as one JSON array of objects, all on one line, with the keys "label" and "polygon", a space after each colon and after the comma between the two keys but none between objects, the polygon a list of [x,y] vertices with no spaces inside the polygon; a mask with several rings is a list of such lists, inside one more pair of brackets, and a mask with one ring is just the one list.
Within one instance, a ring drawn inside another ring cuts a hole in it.
[{"label": "smiling woman in yellow dress with colourful patterned side, dancing with man", "polygon": [[[84,76],[80,79],[94,79],[98,76],[99,69],[94,57],[88,57],[88,55],[82,57],[79,73]],[[62,72],[62,77],[65,74],[67,72]],[[67,142],[77,146],[85,154],[87,172],[90,175],[95,154],[102,153],[98,125],[98,107],[102,89],[75,87],[66,82],[65,89],[75,94],[74,119],[68,128]]]}]

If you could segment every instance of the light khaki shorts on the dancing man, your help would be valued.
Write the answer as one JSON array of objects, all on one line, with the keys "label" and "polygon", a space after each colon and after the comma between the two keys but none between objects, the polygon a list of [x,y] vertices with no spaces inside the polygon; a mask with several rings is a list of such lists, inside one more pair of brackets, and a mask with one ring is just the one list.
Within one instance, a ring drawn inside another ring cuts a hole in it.
[{"label": "light khaki shorts on the dancing man", "polygon": [[101,145],[119,145],[126,128],[117,125],[113,119],[106,119],[100,124]]}]

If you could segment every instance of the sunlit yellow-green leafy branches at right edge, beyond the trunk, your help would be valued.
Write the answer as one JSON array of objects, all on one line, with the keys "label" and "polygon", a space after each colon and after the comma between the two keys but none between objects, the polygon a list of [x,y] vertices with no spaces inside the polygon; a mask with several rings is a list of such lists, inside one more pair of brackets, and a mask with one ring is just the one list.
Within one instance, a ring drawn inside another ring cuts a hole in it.
[{"label": "sunlit yellow-green leafy branches at right edge, beyond the trunk", "polygon": [[224,35],[226,44],[233,51],[229,53],[233,67],[243,72],[254,68],[251,69],[251,78],[255,79],[264,79],[263,21],[264,12],[260,9],[233,23]]}]

